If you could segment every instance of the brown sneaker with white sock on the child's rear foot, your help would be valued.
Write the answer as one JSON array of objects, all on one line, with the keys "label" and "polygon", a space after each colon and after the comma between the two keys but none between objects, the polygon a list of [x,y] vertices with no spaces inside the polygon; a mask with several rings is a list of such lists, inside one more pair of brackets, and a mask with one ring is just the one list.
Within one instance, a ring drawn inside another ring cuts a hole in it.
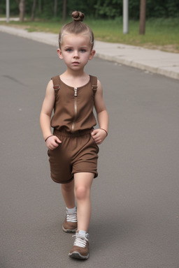
[{"label": "brown sneaker with white sock on the child's rear foot", "polygon": [[76,232],[77,230],[77,214],[76,212],[66,211],[66,218],[62,226],[64,232]]}]

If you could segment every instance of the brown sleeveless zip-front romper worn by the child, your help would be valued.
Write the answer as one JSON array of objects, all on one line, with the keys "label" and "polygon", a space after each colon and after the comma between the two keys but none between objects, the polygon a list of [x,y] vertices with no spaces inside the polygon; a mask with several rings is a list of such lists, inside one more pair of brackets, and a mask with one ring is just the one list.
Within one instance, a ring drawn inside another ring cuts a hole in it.
[{"label": "brown sleeveless zip-front romper worn by the child", "polygon": [[66,85],[59,75],[52,81],[55,105],[51,126],[62,143],[48,150],[51,177],[60,184],[69,183],[78,172],[91,172],[97,177],[99,147],[91,136],[96,126],[93,108],[97,78],[90,75],[89,82],[78,88]]}]

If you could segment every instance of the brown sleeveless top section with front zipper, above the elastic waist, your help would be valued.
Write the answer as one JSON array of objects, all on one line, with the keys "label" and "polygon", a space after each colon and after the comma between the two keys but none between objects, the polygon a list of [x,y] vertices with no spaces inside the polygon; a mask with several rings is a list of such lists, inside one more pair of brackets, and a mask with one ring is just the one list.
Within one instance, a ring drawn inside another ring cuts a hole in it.
[{"label": "brown sleeveless top section with front zipper, above the elastic waist", "polygon": [[83,87],[69,87],[59,75],[52,77],[55,90],[54,114],[51,126],[57,131],[76,133],[96,126],[94,117],[94,96],[97,90],[97,78],[90,75],[90,80]]}]

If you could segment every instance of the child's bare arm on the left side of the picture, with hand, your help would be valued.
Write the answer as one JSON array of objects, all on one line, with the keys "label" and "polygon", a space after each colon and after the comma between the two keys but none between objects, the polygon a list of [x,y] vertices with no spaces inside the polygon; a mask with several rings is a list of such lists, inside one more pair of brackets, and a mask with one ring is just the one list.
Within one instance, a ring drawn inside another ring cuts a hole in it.
[{"label": "child's bare arm on the left side of the picture, with hand", "polygon": [[50,80],[46,89],[45,98],[43,101],[43,105],[41,109],[41,116],[40,116],[40,125],[41,125],[41,130],[43,133],[43,138],[44,140],[48,138],[45,142],[48,149],[55,149],[58,147],[57,142],[60,143],[60,140],[58,139],[58,137],[52,135],[51,129],[50,129],[50,120],[51,120],[54,103],[55,103],[55,94],[54,94],[54,89],[52,85],[52,80]]}]

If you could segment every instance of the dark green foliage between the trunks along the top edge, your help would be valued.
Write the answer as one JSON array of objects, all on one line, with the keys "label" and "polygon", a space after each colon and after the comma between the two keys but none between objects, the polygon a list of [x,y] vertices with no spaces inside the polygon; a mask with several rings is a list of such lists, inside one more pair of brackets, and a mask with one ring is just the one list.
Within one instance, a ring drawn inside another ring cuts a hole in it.
[{"label": "dark green foliage between the trunks along the top edge", "polygon": [[[81,10],[87,17],[114,19],[122,16],[123,0],[67,0],[67,17],[72,10]],[[10,1],[10,15],[19,15],[18,0]],[[31,16],[33,0],[26,0],[26,15]],[[57,17],[62,18],[63,1],[57,1]],[[129,1],[129,17],[138,20],[140,0]],[[6,1],[0,3],[0,14],[6,14]],[[54,16],[54,1],[37,0],[36,16],[50,19]],[[147,18],[178,17],[179,0],[148,0]]]}]

